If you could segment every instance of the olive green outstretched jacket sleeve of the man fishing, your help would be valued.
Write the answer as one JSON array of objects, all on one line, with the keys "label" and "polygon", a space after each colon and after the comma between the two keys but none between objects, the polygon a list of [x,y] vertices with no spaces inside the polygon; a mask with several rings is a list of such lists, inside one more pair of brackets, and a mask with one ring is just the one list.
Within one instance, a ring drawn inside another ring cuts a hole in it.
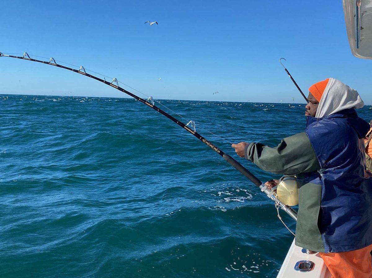
[{"label": "olive green outstretched jacket sleeve of the man fishing", "polygon": [[264,171],[275,174],[299,174],[320,169],[305,132],[282,139],[275,148],[250,143],[246,146],[245,157]]}]

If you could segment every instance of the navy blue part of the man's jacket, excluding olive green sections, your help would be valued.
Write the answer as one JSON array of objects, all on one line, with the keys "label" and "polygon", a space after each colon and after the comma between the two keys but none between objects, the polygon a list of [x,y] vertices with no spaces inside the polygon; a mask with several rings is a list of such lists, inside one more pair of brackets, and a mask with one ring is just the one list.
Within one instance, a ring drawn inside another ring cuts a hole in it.
[{"label": "navy blue part of the man's jacket, excluding olive green sections", "polygon": [[368,130],[369,124],[353,108],[323,118],[307,117],[305,133],[321,167],[309,182],[322,185],[318,227],[325,252],[372,244],[372,178],[364,177],[360,140]]}]

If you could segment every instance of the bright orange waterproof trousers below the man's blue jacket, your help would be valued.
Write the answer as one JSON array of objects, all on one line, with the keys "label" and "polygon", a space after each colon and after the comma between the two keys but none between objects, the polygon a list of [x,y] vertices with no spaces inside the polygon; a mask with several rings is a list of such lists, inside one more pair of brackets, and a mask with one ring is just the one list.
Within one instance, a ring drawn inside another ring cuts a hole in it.
[{"label": "bright orange waterproof trousers below the man's blue jacket", "polygon": [[331,278],[372,278],[372,245],[365,248],[341,252],[319,253]]}]

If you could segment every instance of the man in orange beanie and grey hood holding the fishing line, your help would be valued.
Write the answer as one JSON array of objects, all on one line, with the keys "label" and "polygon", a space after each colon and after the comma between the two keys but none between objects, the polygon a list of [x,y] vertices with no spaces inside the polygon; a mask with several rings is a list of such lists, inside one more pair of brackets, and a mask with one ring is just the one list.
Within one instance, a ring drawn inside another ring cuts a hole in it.
[{"label": "man in orange beanie and grey hood holding the fishing line", "polygon": [[365,177],[363,138],[370,126],[357,116],[356,90],[334,78],[309,88],[305,132],[275,148],[232,144],[264,171],[295,174],[297,246],[320,253],[334,278],[371,278],[372,177]]}]

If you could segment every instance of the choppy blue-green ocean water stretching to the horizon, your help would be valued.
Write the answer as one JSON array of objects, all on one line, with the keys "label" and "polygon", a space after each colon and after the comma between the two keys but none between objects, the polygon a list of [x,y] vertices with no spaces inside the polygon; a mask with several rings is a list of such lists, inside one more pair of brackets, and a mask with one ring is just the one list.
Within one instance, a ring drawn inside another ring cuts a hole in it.
[{"label": "choppy blue-green ocean water stretching to the horizon", "polygon": [[[231,142],[305,125],[304,104],[160,102],[262,181]],[[293,236],[272,201],[150,107],[0,95],[0,114],[0,277],[276,277]]]}]

